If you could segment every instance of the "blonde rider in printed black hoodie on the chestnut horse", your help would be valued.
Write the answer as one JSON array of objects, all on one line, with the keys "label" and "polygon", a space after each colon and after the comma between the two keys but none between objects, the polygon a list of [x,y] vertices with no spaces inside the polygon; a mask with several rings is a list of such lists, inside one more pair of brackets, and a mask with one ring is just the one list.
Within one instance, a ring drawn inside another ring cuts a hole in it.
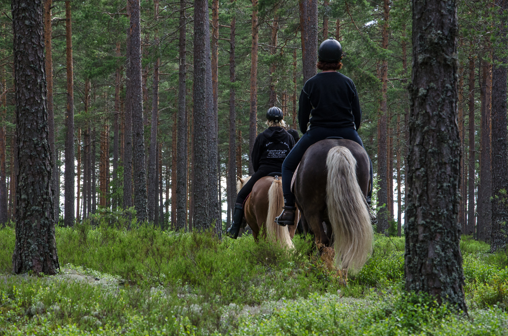
[{"label": "blonde rider in printed black hoodie on the chestnut horse", "polygon": [[270,173],[280,172],[284,158],[295,145],[293,137],[282,128],[285,126],[284,115],[278,107],[272,107],[266,112],[268,128],[260,133],[252,149],[252,167],[254,174],[238,192],[233,224],[228,229],[229,237],[236,239],[243,219],[243,202],[252,191],[254,184]]}]

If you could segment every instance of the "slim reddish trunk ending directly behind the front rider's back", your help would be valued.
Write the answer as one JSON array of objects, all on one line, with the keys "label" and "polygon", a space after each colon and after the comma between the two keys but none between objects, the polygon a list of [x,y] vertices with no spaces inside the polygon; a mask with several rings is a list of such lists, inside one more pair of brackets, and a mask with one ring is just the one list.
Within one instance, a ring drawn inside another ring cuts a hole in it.
[{"label": "slim reddish trunk ending directly behind the front rider's back", "polygon": [[252,46],[250,48],[249,175],[254,174],[250,156],[258,136],[258,0],[252,0]]}]

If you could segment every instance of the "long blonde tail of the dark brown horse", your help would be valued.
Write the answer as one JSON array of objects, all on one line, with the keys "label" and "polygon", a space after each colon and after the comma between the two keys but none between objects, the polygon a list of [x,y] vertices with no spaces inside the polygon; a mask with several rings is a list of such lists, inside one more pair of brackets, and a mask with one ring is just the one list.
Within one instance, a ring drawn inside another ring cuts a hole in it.
[{"label": "long blonde tail of the dark brown horse", "polygon": [[373,231],[364,195],[356,179],[356,159],[345,147],[326,158],[326,205],[334,234],[335,263],[358,272],[372,252]]}]

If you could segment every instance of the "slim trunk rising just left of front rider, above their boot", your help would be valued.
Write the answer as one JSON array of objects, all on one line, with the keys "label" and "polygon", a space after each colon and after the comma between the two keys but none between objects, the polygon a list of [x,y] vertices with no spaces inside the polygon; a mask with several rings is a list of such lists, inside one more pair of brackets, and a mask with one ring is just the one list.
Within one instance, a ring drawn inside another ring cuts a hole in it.
[{"label": "slim trunk rising just left of front rider, above their boot", "polygon": [[230,24],[230,52],[229,52],[229,152],[228,152],[228,226],[231,221],[231,211],[236,199],[236,17],[231,18]]}]

